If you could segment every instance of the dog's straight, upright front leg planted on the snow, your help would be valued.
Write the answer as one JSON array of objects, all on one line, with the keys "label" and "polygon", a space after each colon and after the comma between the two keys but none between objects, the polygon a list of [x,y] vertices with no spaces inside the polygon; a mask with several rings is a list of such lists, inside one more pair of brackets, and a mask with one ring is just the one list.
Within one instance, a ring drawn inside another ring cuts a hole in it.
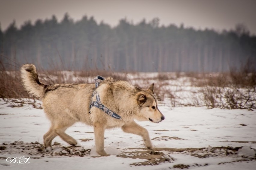
[{"label": "dog's straight, upright front leg planted on the snow", "polygon": [[108,154],[104,150],[104,132],[105,132],[104,126],[100,123],[95,123],[93,127],[94,127],[96,152],[101,156],[108,156]]}]

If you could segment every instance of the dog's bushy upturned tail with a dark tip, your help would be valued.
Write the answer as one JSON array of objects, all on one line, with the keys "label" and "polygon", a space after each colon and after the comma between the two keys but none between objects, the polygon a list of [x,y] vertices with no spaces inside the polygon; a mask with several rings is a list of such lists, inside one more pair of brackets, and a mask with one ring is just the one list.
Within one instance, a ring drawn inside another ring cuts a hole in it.
[{"label": "dog's bushy upturned tail with a dark tip", "polygon": [[21,81],[29,94],[43,98],[47,85],[42,84],[38,79],[36,68],[33,64],[24,64],[21,69]]}]

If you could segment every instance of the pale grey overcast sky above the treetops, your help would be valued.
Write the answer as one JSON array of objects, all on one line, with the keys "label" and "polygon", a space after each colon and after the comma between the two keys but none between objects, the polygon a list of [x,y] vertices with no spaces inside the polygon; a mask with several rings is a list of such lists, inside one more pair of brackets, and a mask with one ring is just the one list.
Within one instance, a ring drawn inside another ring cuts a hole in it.
[{"label": "pale grey overcast sky above the treetops", "polygon": [[160,25],[184,23],[196,29],[230,30],[245,24],[256,35],[256,0],[0,0],[1,29],[15,19],[18,27],[24,21],[51,18],[60,21],[68,12],[75,21],[93,16],[111,26],[126,17],[136,24],[143,18],[160,19]]}]

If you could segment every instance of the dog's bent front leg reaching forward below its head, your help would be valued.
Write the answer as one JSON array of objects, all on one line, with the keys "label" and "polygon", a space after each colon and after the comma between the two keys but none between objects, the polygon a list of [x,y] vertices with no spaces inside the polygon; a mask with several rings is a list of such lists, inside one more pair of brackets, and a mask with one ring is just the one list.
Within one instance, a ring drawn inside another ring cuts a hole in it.
[{"label": "dog's bent front leg reaching forward below its head", "polygon": [[152,149],[151,140],[148,135],[148,130],[138,125],[136,122],[129,122],[122,126],[122,129],[126,133],[133,133],[142,136],[147,148]]}]

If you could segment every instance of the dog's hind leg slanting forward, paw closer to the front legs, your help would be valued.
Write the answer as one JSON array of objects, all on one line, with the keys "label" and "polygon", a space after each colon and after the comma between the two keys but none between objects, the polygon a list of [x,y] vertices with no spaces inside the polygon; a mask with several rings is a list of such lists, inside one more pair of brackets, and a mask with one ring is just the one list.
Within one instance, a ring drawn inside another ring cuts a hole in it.
[{"label": "dog's hind leg slanting forward, paw closer to the front legs", "polygon": [[69,136],[68,134],[65,133],[65,130],[72,126],[75,123],[75,121],[73,122],[69,122],[68,124],[64,124],[63,122],[60,122],[57,125],[54,125],[54,132],[61,138],[63,139],[65,142],[69,143],[72,146],[75,146],[77,144],[76,140],[74,138],[72,138],[71,136]]}]

